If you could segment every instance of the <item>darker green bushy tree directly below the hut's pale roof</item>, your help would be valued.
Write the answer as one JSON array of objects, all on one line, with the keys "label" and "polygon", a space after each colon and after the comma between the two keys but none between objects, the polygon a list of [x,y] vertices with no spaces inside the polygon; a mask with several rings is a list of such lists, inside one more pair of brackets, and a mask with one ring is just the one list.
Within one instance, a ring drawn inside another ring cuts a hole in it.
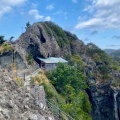
[{"label": "darker green bushy tree directly below the hut's pale roof", "polygon": [[79,76],[73,66],[64,65],[62,63],[59,63],[56,70],[50,73],[49,78],[60,94],[65,93],[66,85],[72,86],[76,93],[83,85],[83,76]]}]

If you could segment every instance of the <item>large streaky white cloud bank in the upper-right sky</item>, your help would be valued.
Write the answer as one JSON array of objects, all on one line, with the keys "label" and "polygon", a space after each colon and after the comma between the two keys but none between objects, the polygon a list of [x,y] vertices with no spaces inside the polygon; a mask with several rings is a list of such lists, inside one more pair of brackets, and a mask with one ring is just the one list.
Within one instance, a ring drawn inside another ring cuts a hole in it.
[{"label": "large streaky white cloud bank in the upper-right sky", "polygon": [[91,5],[87,6],[84,11],[90,14],[91,18],[79,22],[75,26],[76,29],[120,28],[120,0],[91,0]]}]

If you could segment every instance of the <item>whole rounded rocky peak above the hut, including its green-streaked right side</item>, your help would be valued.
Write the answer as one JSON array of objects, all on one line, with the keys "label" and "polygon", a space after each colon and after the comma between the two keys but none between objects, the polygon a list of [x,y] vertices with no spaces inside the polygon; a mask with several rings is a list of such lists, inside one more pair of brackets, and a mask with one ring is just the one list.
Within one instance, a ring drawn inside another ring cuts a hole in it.
[{"label": "whole rounded rocky peak above the hut, including its green-streaked right side", "polygon": [[[52,29],[54,27],[55,29]],[[35,23],[19,37],[16,43],[28,53],[32,53],[34,57],[45,58],[49,56],[62,57],[82,52],[82,48],[85,49],[83,42],[76,36],[73,37],[71,33],[63,31],[60,27],[56,29],[57,27],[53,23]],[[61,32],[61,34],[59,35],[57,32]]]}]

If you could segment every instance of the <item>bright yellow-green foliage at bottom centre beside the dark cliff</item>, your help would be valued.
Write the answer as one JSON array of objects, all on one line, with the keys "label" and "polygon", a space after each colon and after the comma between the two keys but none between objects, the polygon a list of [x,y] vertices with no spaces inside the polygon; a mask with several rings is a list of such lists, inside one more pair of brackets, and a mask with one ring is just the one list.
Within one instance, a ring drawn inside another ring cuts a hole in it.
[{"label": "bright yellow-green foliage at bottom centre beside the dark cliff", "polygon": [[[74,92],[73,92],[74,93]],[[76,120],[91,120],[88,113],[91,111],[91,105],[85,91],[79,92],[78,95],[70,93],[71,102],[63,105],[63,110],[70,114]],[[70,99],[70,98],[69,98]]]}]

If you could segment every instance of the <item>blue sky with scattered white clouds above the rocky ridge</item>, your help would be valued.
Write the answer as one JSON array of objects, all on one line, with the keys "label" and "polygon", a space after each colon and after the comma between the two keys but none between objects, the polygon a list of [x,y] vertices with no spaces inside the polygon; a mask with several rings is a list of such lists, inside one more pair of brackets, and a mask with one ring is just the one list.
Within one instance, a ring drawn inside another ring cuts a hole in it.
[{"label": "blue sky with scattered white clouds above the rocky ridge", "polygon": [[120,0],[0,0],[0,35],[16,40],[27,22],[52,21],[101,49],[120,49]]}]

